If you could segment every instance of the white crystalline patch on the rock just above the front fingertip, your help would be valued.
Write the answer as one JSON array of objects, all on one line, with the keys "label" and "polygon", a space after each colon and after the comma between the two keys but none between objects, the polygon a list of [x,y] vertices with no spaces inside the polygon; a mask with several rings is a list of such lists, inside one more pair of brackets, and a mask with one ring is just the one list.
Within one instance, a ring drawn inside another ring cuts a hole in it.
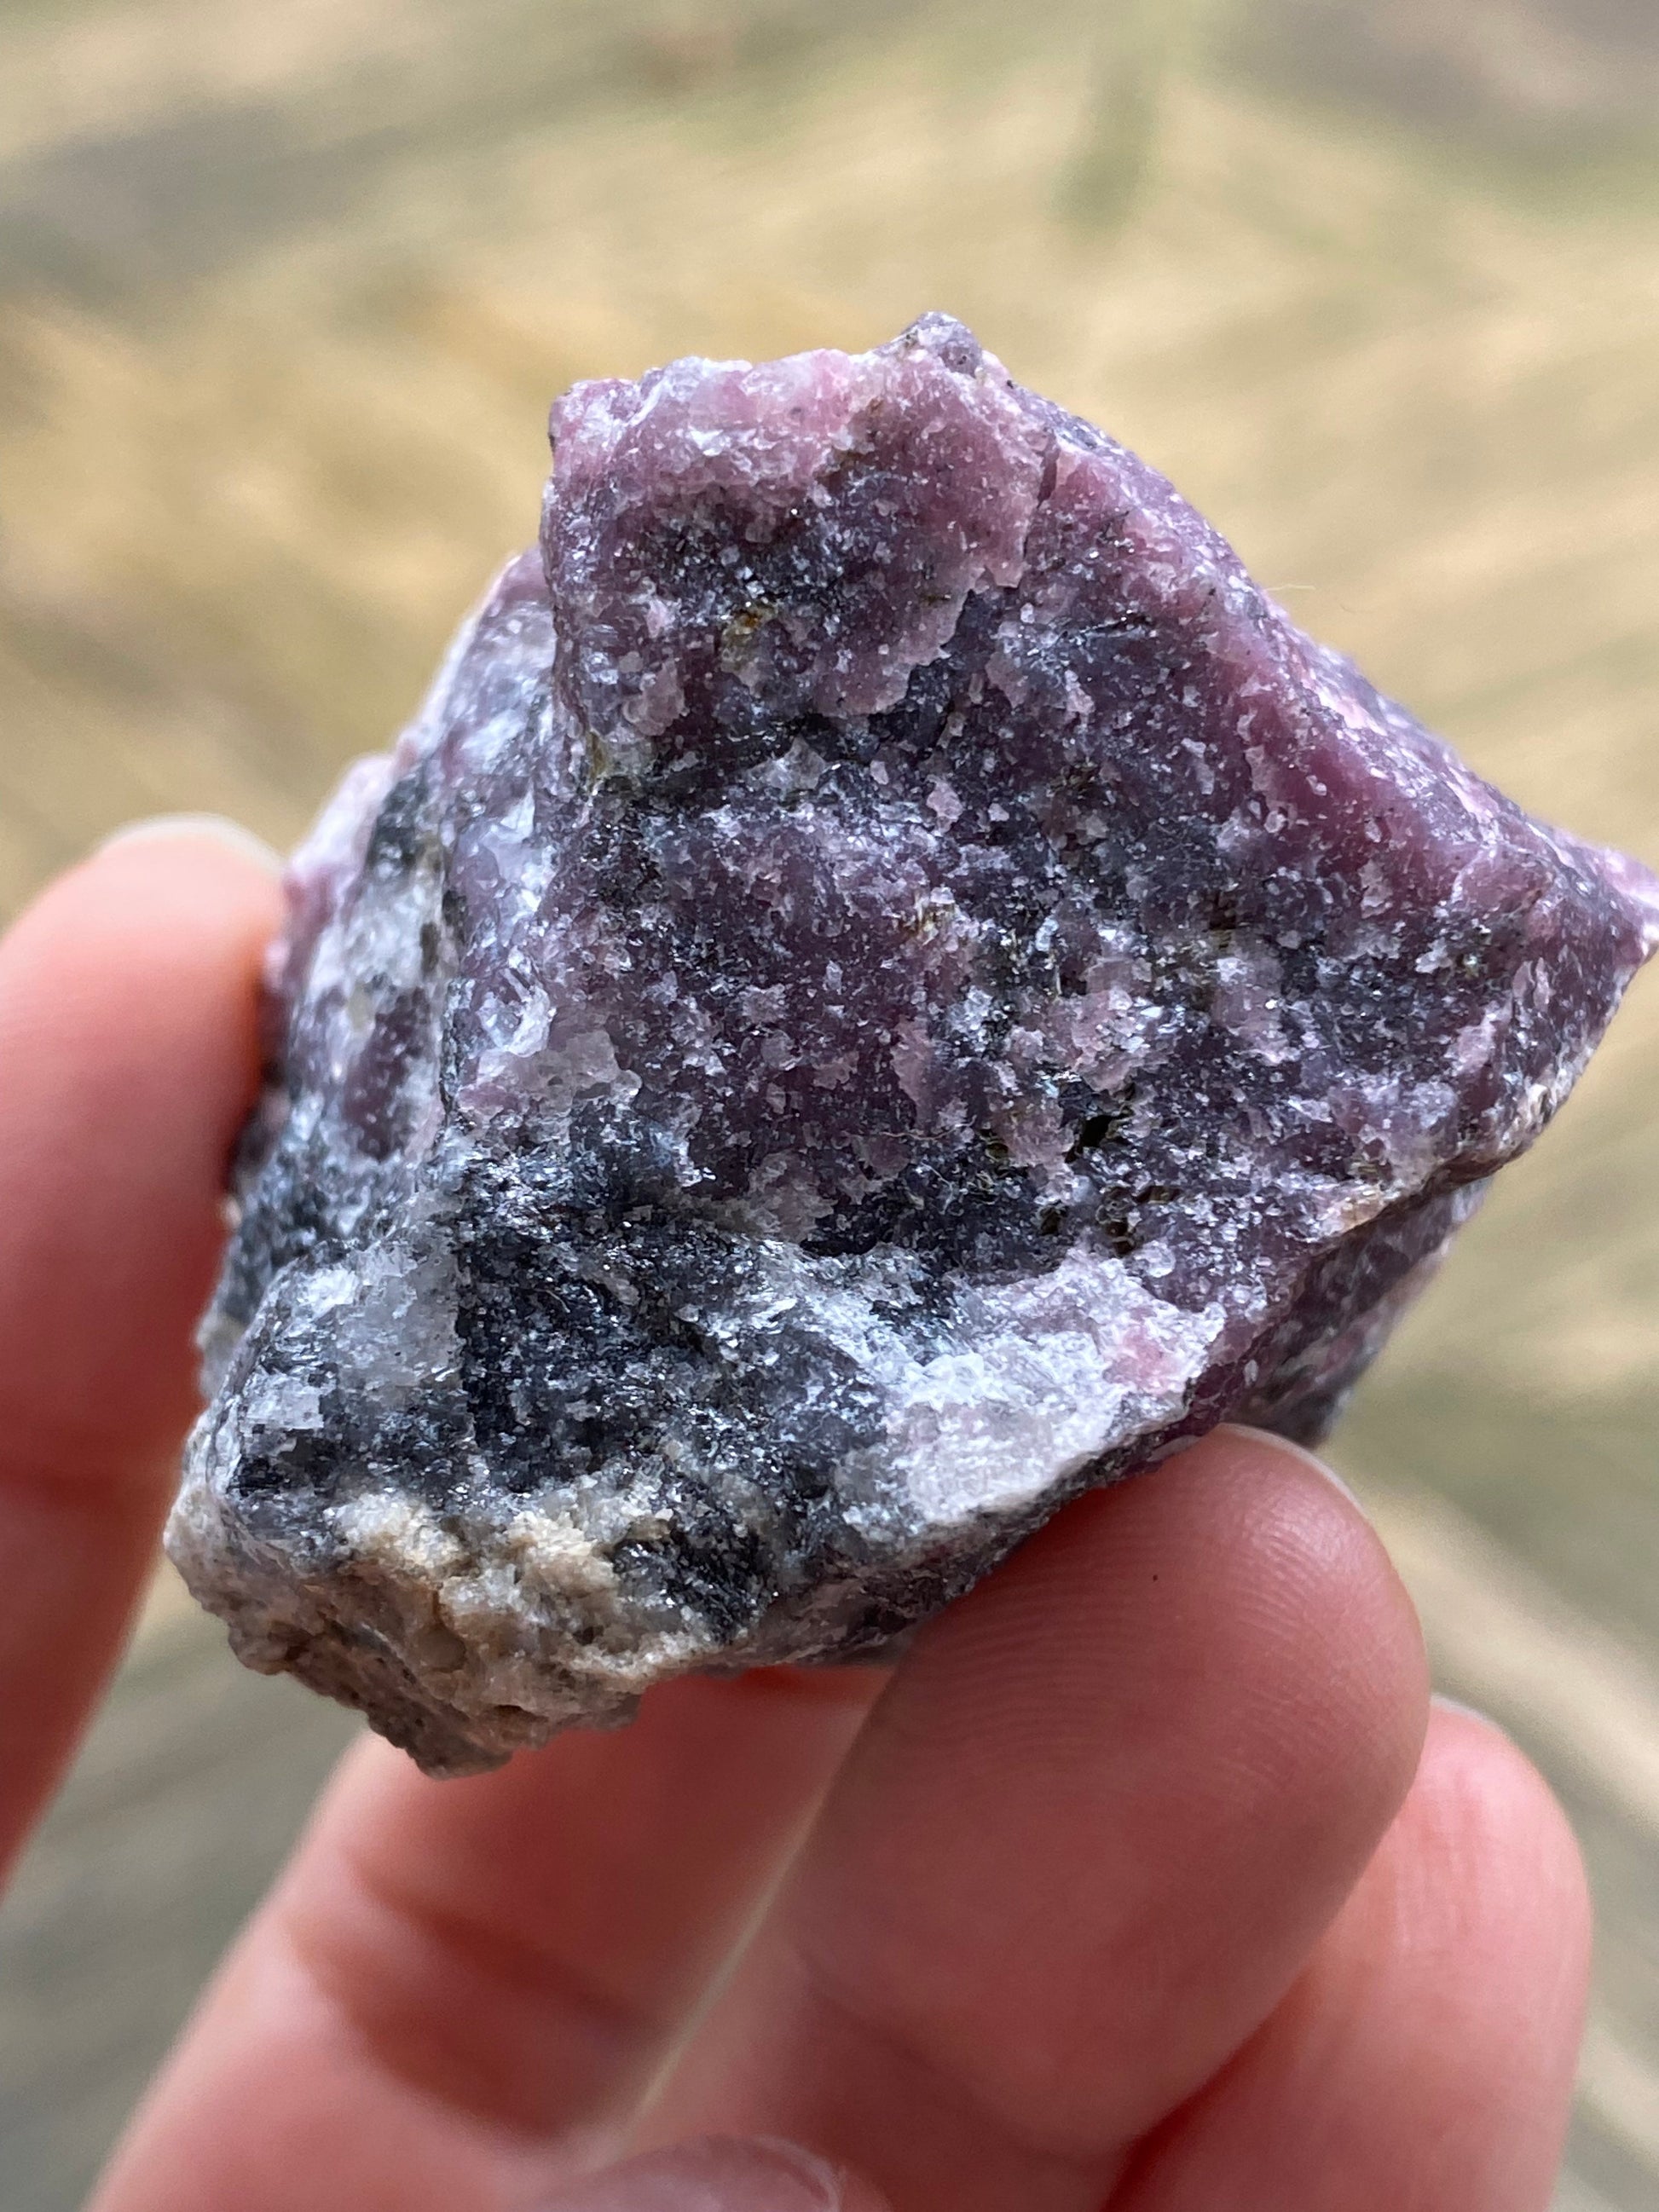
[{"label": "white crystalline patch on the rock just above the front fingertip", "polygon": [[916,1367],[887,1433],[929,1522],[1002,1513],[1186,1405],[1221,1307],[1155,1298],[1119,1259],[1071,1252],[1053,1274],[973,1296],[973,1340]]}]

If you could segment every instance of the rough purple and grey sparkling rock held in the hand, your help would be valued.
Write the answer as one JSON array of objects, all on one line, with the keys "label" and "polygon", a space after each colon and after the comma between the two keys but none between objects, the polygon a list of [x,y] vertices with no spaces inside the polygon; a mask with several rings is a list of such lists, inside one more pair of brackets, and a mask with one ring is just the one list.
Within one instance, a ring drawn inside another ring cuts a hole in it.
[{"label": "rough purple and grey sparkling rock held in the hand", "polygon": [[1659,940],[945,316],[553,438],[294,863],[170,1531],[438,1774],[1316,1436]]}]

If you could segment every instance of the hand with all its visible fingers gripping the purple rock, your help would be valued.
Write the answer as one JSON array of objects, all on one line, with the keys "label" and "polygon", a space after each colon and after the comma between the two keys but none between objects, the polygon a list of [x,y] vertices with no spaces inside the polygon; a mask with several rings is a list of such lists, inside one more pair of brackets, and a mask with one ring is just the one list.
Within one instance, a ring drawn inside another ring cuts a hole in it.
[{"label": "hand with all its visible fingers gripping the purple rock", "polygon": [[[153,1555],[274,920],[153,830],[0,947],[4,1845]],[[465,1783],[361,1743],[95,2205],[1542,2212],[1586,1947],[1358,1509],[1221,1431],[885,1683],[684,1681]]]}]

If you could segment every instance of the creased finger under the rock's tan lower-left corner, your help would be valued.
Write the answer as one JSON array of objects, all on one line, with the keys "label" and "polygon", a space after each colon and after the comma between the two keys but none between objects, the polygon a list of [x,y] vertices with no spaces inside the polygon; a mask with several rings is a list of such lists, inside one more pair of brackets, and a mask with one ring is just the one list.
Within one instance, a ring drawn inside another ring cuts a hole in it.
[{"label": "creased finger under the rock's tan lower-left corner", "polygon": [[876,1688],[670,1683],[458,1783],[363,1745],[97,2212],[540,2208],[684,2033]]}]

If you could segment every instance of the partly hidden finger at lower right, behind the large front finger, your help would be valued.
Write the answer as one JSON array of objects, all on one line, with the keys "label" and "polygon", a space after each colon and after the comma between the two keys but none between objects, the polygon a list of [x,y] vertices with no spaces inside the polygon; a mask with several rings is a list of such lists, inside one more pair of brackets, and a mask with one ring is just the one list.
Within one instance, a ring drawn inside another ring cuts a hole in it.
[{"label": "partly hidden finger at lower right, behind the large front finger", "polygon": [[1436,1710],[1411,1796],[1307,1973],[1141,2150],[1115,2212],[1544,2212],[1588,1964],[1555,1798],[1498,1730]]}]

